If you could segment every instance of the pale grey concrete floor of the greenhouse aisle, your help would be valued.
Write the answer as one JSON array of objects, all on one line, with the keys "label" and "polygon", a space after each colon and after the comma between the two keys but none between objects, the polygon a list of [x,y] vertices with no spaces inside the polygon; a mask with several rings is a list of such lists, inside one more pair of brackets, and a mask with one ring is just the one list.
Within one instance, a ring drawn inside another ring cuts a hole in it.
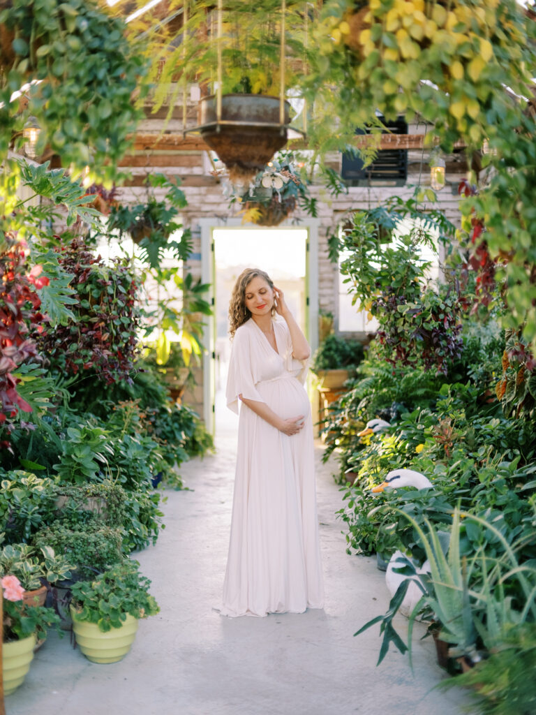
[{"label": "pale grey concrete floor of the greenhouse aisle", "polygon": [[[391,652],[379,668],[387,589],[375,560],[347,556],[341,495],[317,447],[326,606],[267,618],[225,618],[219,606],[232,506],[235,436],[220,430],[217,454],[183,465],[191,491],[169,492],[166,528],[139,554],[161,612],[140,621],[128,656],[96,665],[54,635],[38,651],[8,715],[459,715],[465,691],[432,690],[443,671],[430,638],[414,636],[414,673]],[[405,628],[404,619],[399,626]]]}]

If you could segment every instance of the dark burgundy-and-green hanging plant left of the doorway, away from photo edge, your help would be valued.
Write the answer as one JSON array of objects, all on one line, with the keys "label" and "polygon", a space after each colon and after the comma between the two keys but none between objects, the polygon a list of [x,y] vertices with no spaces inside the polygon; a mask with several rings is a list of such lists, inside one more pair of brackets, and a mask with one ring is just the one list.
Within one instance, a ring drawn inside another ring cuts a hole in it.
[{"label": "dark burgundy-and-green hanging plant left of the doorway, away from photo edge", "polygon": [[75,319],[38,339],[51,368],[69,375],[86,373],[111,385],[129,380],[137,352],[139,282],[124,262],[106,266],[81,238],[58,249],[59,264],[72,275]]}]

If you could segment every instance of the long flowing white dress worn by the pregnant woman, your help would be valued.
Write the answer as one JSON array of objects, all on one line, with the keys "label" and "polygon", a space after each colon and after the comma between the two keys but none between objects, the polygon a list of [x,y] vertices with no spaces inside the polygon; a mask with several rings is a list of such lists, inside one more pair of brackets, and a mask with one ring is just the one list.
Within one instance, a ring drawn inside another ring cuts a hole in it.
[{"label": "long flowing white dress worn by the pregnant woman", "polygon": [[234,335],[227,405],[265,402],[286,419],[305,415],[285,435],[241,403],[229,557],[222,613],[266,616],[322,608],[324,585],[317,522],[313,433],[304,389],[307,364],[292,358],[282,317],[273,319],[277,350],[250,319]]}]

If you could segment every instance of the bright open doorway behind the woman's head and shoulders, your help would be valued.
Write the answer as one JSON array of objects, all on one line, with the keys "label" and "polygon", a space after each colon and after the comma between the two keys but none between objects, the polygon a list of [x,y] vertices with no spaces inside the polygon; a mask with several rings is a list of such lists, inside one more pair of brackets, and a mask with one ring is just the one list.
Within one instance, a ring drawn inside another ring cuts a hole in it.
[{"label": "bright open doorway behind the woman's head and shoulders", "polygon": [[225,404],[231,343],[229,299],[244,268],[260,268],[284,292],[298,324],[307,333],[307,240],[302,227],[255,229],[221,227],[214,245],[214,426],[218,435],[237,430],[237,416]]}]

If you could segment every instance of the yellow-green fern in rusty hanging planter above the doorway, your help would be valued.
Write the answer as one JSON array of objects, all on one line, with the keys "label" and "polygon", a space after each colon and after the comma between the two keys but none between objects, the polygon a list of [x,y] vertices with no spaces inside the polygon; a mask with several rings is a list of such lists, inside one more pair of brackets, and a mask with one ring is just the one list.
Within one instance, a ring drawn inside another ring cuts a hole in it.
[{"label": "yellow-green fern in rusty hanging planter above the doorway", "polygon": [[291,107],[282,94],[296,87],[303,68],[305,24],[297,3],[287,3],[283,14],[269,0],[229,0],[218,36],[214,1],[200,0],[180,28],[179,56],[159,70],[160,82],[173,82],[179,61],[177,96],[189,82],[198,82],[207,95],[199,102],[199,126],[191,131],[218,154],[232,182],[249,182],[287,142]]}]

